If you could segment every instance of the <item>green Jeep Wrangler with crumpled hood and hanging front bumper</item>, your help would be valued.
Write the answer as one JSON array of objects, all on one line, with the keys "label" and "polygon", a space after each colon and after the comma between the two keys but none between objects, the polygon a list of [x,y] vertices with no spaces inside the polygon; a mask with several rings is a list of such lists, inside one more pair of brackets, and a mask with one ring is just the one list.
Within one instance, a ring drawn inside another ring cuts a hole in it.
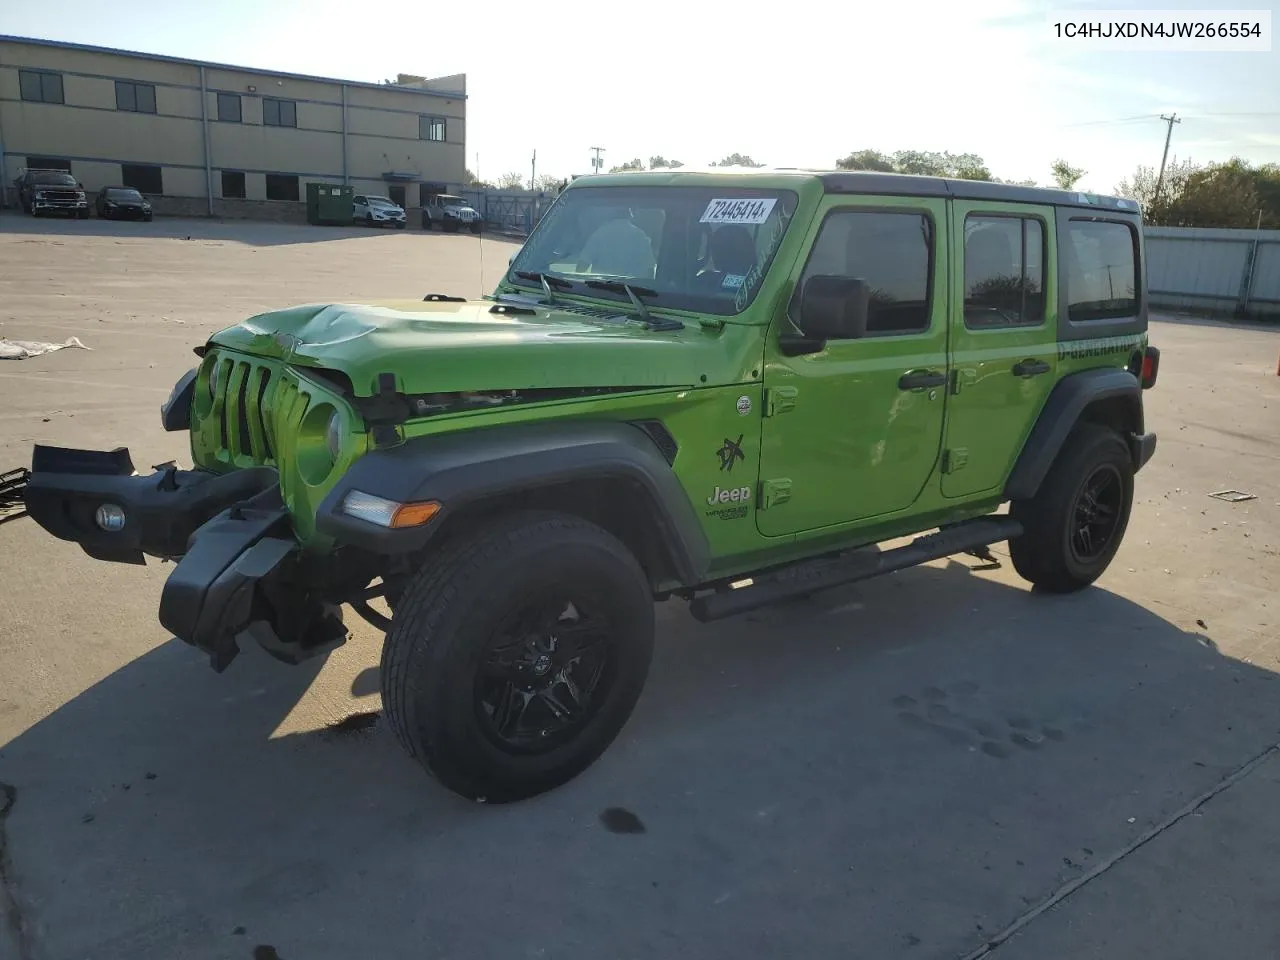
[{"label": "green Jeep Wrangler with crumpled hood and hanging front bumper", "polygon": [[195,468],[36,447],[23,497],[91,557],[178,559],[160,622],[216,671],[328,652],[349,607],[408,753],[518,800],[618,735],[654,600],[709,621],[1006,540],[1042,589],[1096,580],[1156,444],[1140,224],[924,177],[582,178],[489,297],[197,347],[161,408]]}]

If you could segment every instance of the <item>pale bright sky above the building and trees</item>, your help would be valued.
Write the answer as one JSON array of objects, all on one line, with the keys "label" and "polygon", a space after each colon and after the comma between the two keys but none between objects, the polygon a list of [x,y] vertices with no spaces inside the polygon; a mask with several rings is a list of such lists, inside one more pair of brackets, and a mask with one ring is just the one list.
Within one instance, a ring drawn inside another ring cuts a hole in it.
[{"label": "pale bright sky above the building and trees", "polygon": [[1280,163],[1280,46],[1135,54],[1050,26],[1172,3],[470,0],[447,14],[349,0],[0,0],[0,33],[353,81],[466,73],[467,166],[485,179],[527,178],[534,151],[539,174],[590,173],[593,146],[605,168],[732,152],[831,168],[861,148],[950,150],[1041,183],[1064,157],[1087,170],[1079,188],[1111,192],[1158,166],[1171,113],[1171,159]]}]

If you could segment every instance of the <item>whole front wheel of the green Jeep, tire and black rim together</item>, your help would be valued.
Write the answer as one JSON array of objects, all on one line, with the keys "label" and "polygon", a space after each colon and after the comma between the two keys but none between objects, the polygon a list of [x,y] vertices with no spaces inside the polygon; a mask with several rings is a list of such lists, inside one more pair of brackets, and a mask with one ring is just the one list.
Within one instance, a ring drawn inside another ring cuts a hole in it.
[{"label": "whole front wheel of the green Jeep, tire and black rim together", "polygon": [[590,767],[631,716],[653,655],[653,598],[613,535],[517,513],[451,539],[397,604],[383,707],[449,790],[511,803]]}]

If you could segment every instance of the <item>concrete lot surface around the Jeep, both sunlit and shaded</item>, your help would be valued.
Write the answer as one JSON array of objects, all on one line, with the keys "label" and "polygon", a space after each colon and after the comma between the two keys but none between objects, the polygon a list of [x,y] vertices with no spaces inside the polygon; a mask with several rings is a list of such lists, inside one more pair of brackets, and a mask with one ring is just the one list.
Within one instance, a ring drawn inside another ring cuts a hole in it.
[{"label": "concrete lot surface around the Jeep, both sunlit and shaded", "polygon": [[[512,251],[0,216],[0,337],[92,348],[0,361],[0,468],[182,460],[157,404],[211,330],[479,293]],[[218,676],[156,622],[166,567],[0,525],[0,957],[1276,956],[1280,330],[1152,339],[1160,447],[1096,588],[961,558],[714,626],[667,604],[614,746],[504,808],[362,717],[371,630]]]}]

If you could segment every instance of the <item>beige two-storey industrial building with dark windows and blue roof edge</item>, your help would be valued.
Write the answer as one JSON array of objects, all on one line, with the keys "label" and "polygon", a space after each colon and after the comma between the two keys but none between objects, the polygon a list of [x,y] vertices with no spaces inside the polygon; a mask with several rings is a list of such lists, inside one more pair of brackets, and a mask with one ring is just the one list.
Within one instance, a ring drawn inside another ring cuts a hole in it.
[{"label": "beige two-storey industrial building with dark windows and blue roof edge", "polygon": [[0,192],[28,166],[90,193],[136,187],[157,214],[298,220],[306,184],[406,207],[463,183],[466,74],[305,77],[0,36]]}]

